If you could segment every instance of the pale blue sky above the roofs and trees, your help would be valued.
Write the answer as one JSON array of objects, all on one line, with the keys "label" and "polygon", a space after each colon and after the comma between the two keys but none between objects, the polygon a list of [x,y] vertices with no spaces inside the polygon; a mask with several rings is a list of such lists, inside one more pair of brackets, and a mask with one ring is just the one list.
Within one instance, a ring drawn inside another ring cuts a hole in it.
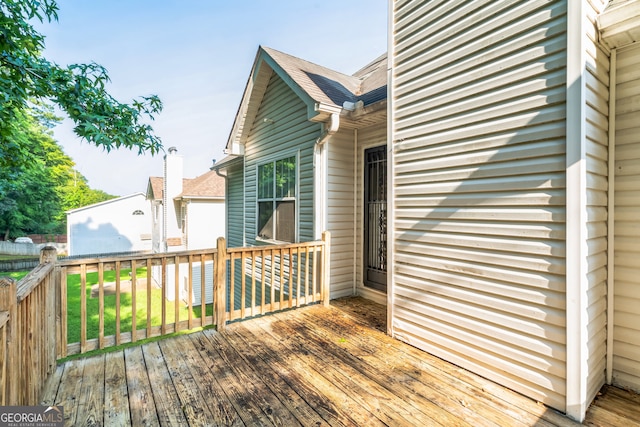
[{"label": "pale blue sky above the roofs and trees", "polygon": [[[185,178],[224,157],[259,46],[352,74],[387,49],[387,0],[58,0],[57,22],[38,24],[44,56],[96,62],[120,102],[158,95],[152,122]],[[62,113],[61,113],[62,114]],[[162,176],[164,153],[109,153],[81,140],[66,119],[54,137],[92,188],[123,196]]]}]

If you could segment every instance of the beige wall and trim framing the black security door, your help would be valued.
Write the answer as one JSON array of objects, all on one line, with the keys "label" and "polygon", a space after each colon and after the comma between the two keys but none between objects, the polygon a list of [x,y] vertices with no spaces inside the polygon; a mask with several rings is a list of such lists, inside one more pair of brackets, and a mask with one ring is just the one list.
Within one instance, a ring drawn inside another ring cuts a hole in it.
[{"label": "beige wall and trim framing the black security door", "polygon": [[357,133],[357,164],[356,164],[356,291],[358,295],[374,300],[380,304],[387,303],[387,296],[382,292],[366,288],[363,282],[364,254],[364,151],[367,148],[378,147],[387,144],[386,123],[370,126],[358,130]]}]

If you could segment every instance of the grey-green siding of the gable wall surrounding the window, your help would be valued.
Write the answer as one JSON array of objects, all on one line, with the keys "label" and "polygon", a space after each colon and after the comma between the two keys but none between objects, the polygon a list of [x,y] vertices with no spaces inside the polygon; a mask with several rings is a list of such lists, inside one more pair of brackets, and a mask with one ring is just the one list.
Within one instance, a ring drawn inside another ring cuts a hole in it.
[{"label": "grey-green siding of the gable wall surrounding the window", "polygon": [[[269,244],[268,242],[263,243],[256,240],[256,218],[258,209],[256,180],[258,165],[267,161],[274,161],[290,156],[297,157],[297,241],[306,242],[314,240],[313,152],[315,141],[320,136],[321,125],[308,121],[307,106],[305,103],[280,77],[272,73],[256,118],[253,124],[247,124],[247,126],[251,126],[251,130],[245,143],[244,167],[242,172],[244,177],[242,188],[244,198],[242,210],[244,215],[241,219],[233,220],[234,224],[235,221],[241,220],[243,222],[242,228],[244,235],[242,236],[242,246]],[[233,173],[231,185],[233,185],[234,188],[232,191],[240,195],[241,192],[235,187],[236,175],[240,176],[239,173]],[[236,206],[234,209],[240,207],[239,204],[236,204]],[[233,237],[233,242],[231,243],[234,245],[240,239],[239,235],[231,235],[231,232],[230,237]],[[296,256],[296,259],[297,258]],[[256,274],[258,277],[260,277],[263,265],[269,270],[272,262],[276,263],[275,269],[279,272],[280,263],[282,262],[279,256],[276,256],[275,260],[273,260],[271,256],[268,256],[265,260],[260,258],[256,260]],[[289,259],[286,257],[285,265],[288,263]],[[243,272],[250,271],[250,268],[249,263],[243,268],[239,259],[234,261],[233,305],[236,310],[240,309],[242,302],[242,274]],[[313,268],[313,262],[310,263],[310,268]],[[271,301],[272,285],[275,288],[276,298],[278,298],[281,290],[288,295],[288,286],[284,286],[281,289],[278,280],[276,280],[275,283],[271,283],[270,279],[266,279],[264,296],[267,303]],[[258,303],[262,299],[261,286],[262,284],[258,281],[256,283],[257,293],[253,296]],[[229,295],[231,295],[231,293],[229,293]],[[247,293],[245,306],[251,306],[251,298],[252,295]],[[227,301],[227,305],[231,305],[230,299]]]}]

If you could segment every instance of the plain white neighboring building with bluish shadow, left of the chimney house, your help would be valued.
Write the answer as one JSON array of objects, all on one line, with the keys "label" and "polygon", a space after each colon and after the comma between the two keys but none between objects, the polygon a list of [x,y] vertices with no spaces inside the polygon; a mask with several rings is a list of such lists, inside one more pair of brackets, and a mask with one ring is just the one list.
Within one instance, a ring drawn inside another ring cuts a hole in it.
[{"label": "plain white neighboring building with bluish shadow, left of the chimney house", "polygon": [[69,256],[150,251],[150,216],[143,193],[67,211]]}]

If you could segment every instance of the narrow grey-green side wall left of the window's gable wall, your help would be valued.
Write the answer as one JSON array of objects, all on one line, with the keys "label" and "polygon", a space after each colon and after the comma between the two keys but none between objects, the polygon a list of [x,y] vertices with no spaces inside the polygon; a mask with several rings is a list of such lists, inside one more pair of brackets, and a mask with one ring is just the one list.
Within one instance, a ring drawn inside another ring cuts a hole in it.
[{"label": "narrow grey-green side wall left of the window's gable wall", "polygon": [[227,169],[227,247],[244,246],[243,164]]}]

